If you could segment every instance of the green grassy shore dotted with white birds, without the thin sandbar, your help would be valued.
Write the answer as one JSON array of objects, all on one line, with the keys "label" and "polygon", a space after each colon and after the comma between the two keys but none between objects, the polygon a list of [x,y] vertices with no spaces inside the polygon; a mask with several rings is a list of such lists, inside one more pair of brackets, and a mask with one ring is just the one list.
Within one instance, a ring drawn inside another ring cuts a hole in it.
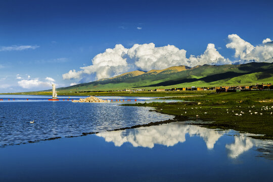
[{"label": "green grassy shore dotted with white birds, without the thin sandbar", "polygon": [[[177,98],[174,98],[177,99]],[[155,107],[155,111],[179,117],[180,121],[214,121],[198,124],[209,128],[235,129],[238,131],[264,134],[253,136],[273,139],[273,92],[238,92],[209,94],[193,97],[193,102],[136,103],[126,106]]]}]

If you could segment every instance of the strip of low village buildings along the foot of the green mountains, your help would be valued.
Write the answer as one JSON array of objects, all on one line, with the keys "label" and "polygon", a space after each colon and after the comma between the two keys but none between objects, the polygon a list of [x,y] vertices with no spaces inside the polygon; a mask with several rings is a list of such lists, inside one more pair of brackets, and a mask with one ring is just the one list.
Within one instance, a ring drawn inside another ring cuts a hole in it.
[{"label": "strip of low village buildings along the foot of the green mountains", "polygon": [[273,90],[273,85],[271,83],[261,83],[254,84],[250,86],[213,86],[213,87],[181,87],[181,88],[156,88],[156,89],[123,89],[123,90],[88,90],[88,91],[78,91],[75,93],[92,93],[92,92],[140,92],[140,91],[148,91],[148,92],[169,92],[169,91],[202,91],[202,90],[216,90],[216,93],[224,93],[224,92],[240,92],[240,91],[258,91],[258,90]]}]

